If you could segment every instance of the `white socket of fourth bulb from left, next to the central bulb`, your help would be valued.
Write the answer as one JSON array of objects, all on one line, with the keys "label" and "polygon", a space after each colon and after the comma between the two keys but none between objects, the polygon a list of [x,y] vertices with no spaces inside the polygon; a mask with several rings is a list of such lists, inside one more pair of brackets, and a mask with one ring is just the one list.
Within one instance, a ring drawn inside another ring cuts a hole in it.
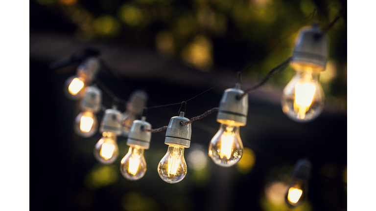
[{"label": "white socket of fourth bulb from left, next to the central bulb", "polygon": [[151,129],[150,123],[146,122],[146,117],[141,120],[133,121],[133,125],[129,131],[127,145],[138,146],[141,149],[149,149],[151,132],[143,131],[143,129]]}]

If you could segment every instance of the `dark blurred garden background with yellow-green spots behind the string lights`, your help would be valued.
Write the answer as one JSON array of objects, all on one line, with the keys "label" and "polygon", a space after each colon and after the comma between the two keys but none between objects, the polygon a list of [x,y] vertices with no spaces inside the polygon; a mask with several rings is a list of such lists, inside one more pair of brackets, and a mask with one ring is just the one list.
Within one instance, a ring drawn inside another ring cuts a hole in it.
[{"label": "dark blurred garden background with yellow-green spots behind the string lights", "polygon": [[[80,138],[74,133],[79,101],[63,93],[65,80],[79,63],[48,69],[50,63],[85,47],[99,49],[108,65],[99,72],[100,81],[124,100],[135,89],[143,89],[149,95],[148,106],[155,106],[188,100],[270,52],[243,74],[246,89],[291,56],[297,30],[311,24],[306,20],[314,8],[322,8],[321,24],[326,26],[341,9],[346,11],[346,4],[344,0],[30,1],[30,81],[36,90],[30,92],[30,151],[36,161],[30,174],[31,209],[289,211],[284,194],[290,174],[298,159],[308,158],[312,176],[307,200],[294,210],[347,210],[346,13],[329,31],[329,60],[320,76],[326,95],[323,113],[305,124],[283,114],[282,89],[295,73],[288,67],[249,95],[248,122],[240,127],[245,148],[240,162],[222,168],[209,158],[209,142],[220,125],[211,114],[192,124],[191,147],[185,150],[188,174],[177,184],[165,183],[157,172],[167,151],[165,131],[152,134],[150,149],[145,150],[148,170],[140,180],[128,181],[119,171],[128,151],[126,138],[118,138],[120,152],[114,164],[99,164],[93,149],[101,134]],[[234,83],[230,80],[190,100],[186,117],[218,106],[224,89]],[[102,104],[112,103],[103,93]],[[179,107],[150,109],[147,121],[153,128],[165,126]],[[118,108],[125,110],[123,104]],[[97,113],[98,121],[102,115]]]}]

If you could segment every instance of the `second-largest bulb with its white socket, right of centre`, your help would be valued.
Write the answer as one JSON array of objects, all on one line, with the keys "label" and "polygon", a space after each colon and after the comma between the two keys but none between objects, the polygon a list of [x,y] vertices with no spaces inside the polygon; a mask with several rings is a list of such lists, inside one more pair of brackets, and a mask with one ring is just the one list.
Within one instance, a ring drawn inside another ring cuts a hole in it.
[{"label": "second-largest bulb with its white socket, right of centre", "polygon": [[222,167],[235,165],[243,155],[239,127],[247,122],[248,95],[236,99],[243,93],[240,84],[236,84],[235,88],[225,90],[219,105],[217,122],[221,126],[209,144],[209,157]]}]

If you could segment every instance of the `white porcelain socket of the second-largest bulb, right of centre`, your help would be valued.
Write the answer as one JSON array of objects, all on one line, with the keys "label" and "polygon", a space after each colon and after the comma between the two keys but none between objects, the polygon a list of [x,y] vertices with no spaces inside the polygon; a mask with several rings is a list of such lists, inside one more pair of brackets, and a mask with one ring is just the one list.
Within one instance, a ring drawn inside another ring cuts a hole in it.
[{"label": "white porcelain socket of the second-largest bulb, right of centre", "polygon": [[234,126],[245,126],[247,124],[248,95],[238,99],[238,96],[243,93],[240,84],[235,84],[235,88],[225,90],[219,103],[217,122]]}]

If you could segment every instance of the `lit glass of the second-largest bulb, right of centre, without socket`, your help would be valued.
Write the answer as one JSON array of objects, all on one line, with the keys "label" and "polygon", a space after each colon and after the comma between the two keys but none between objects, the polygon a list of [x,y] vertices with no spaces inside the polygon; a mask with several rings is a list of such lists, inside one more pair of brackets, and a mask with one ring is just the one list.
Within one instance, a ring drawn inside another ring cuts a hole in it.
[{"label": "lit glass of the second-largest bulb, right of centre, without socket", "polygon": [[222,167],[235,165],[243,155],[239,126],[221,124],[209,144],[209,157]]}]

